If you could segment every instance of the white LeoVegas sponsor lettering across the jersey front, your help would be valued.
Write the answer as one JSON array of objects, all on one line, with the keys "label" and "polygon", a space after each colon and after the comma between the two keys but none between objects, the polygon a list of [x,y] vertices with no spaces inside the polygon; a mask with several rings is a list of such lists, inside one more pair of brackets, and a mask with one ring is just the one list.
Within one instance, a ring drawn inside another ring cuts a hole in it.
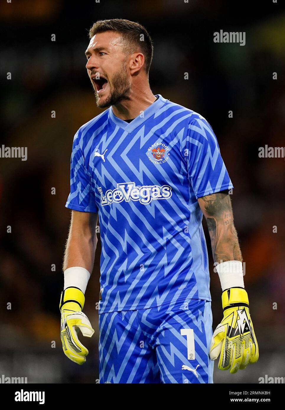
[{"label": "white LeoVegas sponsor lettering across the jersey front", "polygon": [[111,203],[119,203],[122,201],[129,202],[140,201],[141,204],[147,205],[153,199],[169,199],[172,195],[169,185],[143,185],[136,187],[134,182],[122,182],[117,184],[117,188],[108,189],[106,194],[103,194],[102,188],[98,188],[101,195],[101,204],[110,205]]}]

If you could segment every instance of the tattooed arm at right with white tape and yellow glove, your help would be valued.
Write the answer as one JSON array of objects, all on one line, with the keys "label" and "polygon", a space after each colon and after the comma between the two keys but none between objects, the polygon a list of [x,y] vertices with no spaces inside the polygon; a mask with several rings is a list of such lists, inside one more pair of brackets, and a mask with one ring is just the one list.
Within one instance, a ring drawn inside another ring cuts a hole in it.
[{"label": "tattooed arm at right with white tape and yellow glove", "polygon": [[230,373],[236,373],[238,369],[245,369],[248,362],[258,360],[258,345],[244,289],[242,256],[234,228],[232,204],[227,191],[204,196],[198,202],[207,220],[223,291],[224,316],[214,330],[209,355],[211,360],[220,356],[219,369],[230,369]]}]

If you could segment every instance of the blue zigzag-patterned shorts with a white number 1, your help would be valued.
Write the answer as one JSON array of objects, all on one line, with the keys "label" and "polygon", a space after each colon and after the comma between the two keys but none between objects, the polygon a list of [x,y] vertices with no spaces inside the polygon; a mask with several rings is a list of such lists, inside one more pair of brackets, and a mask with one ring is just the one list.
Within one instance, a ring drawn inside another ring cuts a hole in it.
[{"label": "blue zigzag-patterned shorts with a white number 1", "polygon": [[211,302],[99,314],[100,383],[213,383]]}]

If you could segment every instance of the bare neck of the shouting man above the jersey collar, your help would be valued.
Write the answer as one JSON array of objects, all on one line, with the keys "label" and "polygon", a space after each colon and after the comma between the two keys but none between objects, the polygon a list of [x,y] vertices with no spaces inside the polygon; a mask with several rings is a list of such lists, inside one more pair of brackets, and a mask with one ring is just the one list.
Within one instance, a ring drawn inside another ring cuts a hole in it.
[{"label": "bare neck of the shouting man above the jersey collar", "polygon": [[131,120],[139,116],[155,100],[156,97],[153,95],[149,85],[143,91],[142,89],[136,89],[133,84],[129,98],[120,101],[116,105],[112,105],[113,113],[116,117],[121,118],[121,120]]}]

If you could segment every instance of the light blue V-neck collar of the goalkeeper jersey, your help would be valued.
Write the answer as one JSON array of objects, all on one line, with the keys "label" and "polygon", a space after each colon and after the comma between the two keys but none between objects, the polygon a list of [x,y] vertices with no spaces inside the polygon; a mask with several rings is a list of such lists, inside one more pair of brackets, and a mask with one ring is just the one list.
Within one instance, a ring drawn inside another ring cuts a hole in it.
[{"label": "light blue V-neck collar of the goalkeeper jersey", "polygon": [[133,119],[130,123],[127,123],[124,120],[121,120],[121,118],[118,118],[115,116],[113,113],[112,107],[109,107],[109,117],[119,127],[123,128],[126,132],[132,132],[135,130],[140,124],[144,123],[147,118],[151,117],[155,112],[157,112],[168,100],[165,100],[160,94],[156,94],[155,97],[159,97],[154,103],[149,105],[147,109],[144,111],[144,116],[141,118],[140,116],[137,116],[136,118]]}]

